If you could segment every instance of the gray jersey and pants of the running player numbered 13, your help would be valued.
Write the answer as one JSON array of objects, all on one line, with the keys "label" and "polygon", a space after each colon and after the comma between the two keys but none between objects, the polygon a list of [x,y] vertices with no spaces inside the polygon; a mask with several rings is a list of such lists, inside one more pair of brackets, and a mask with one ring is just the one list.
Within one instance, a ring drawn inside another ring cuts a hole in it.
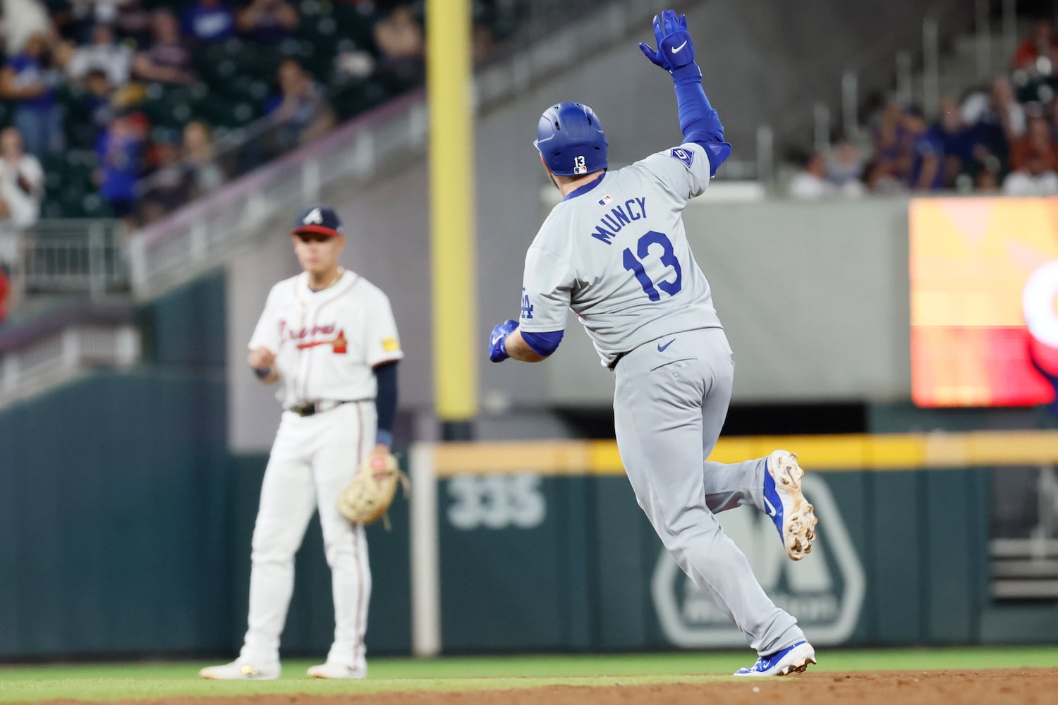
[{"label": "gray jersey and pants of the running player numbered 13", "polygon": [[705,149],[683,144],[569,193],[526,254],[519,327],[561,331],[568,310],[578,314],[615,371],[617,445],[639,505],[750,646],[774,653],[804,634],[713,516],[741,504],[767,511],[766,458],[704,462],[724,425],[734,372],[681,218],[709,179]]}]

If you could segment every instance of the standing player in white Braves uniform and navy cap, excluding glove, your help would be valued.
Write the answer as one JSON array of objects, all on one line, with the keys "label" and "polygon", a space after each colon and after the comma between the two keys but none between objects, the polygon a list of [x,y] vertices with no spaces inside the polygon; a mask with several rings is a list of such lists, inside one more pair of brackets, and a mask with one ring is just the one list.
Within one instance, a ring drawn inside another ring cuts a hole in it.
[{"label": "standing player in white Braves uniform and navy cap, excluding glove", "polygon": [[[364,632],[371,591],[364,527],[335,507],[357,466],[387,453],[403,357],[389,299],[339,266],[338,215],[306,208],[291,234],[305,270],[272,287],[250,340],[250,365],[278,382],[284,413],[261,485],[250,574],[250,627],[239,657],[202,669],[217,680],[279,676],[279,634],[294,588],[294,553],[318,507],[334,598],[334,643],[308,674],[367,673]],[[372,445],[373,441],[373,445]]]}]

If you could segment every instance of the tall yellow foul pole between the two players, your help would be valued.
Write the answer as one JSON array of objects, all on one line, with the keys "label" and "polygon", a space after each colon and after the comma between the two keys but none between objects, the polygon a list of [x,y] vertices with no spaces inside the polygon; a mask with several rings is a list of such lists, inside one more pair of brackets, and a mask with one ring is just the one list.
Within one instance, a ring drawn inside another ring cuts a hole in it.
[{"label": "tall yellow foul pole between the two players", "polygon": [[445,434],[456,437],[477,415],[477,359],[485,349],[475,297],[472,81],[470,0],[427,0],[434,397]]}]

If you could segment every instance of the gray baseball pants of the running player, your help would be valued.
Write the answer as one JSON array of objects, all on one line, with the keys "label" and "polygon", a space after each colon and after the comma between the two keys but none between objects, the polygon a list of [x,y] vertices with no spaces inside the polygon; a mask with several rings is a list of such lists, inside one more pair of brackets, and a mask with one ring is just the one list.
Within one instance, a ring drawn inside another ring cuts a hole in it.
[{"label": "gray baseball pants of the running player", "polygon": [[714,516],[743,504],[763,511],[766,471],[765,458],[704,462],[731,401],[734,363],[724,330],[646,342],[621,358],[615,376],[618,450],[664,548],[758,653],[769,655],[804,639],[797,619],[765,594]]}]

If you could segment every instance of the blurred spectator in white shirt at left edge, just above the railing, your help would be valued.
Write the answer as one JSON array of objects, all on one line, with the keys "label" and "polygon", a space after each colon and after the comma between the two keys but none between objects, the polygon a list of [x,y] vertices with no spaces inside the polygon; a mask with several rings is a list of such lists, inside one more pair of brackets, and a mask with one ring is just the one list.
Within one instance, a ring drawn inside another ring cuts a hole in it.
[{"label": "blurred spectator in white shirt at left edge, just above the railing", "polygon": [[17,262],[22,231],[40,218],[44,170],[26,154],[17,128],[0,130],[0,261]]}]

